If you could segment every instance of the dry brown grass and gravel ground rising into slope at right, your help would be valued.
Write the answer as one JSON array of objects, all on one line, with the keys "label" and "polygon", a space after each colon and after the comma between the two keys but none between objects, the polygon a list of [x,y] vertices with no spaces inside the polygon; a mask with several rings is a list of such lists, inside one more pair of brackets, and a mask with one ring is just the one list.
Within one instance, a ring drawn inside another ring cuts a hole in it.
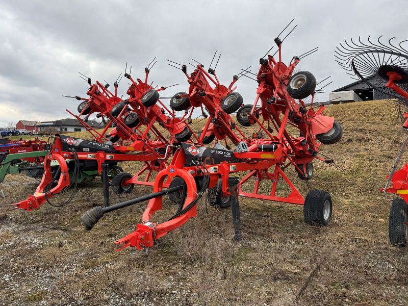
[{"label": "dry brown grass and gravel ground rising into slope at right", "polygon": [[[406,305],[408,248],[390,245],[393,196],[379,193],[405,137],[401,123],[386,101],[327,111],[344,135],[321,152],[344,170],[316,162],[310,184],[333,199],[328,227],[305,224],[301,206],[241,197],[243,237],[234,242],[231,209],[210,207],[206,214],[202,201],[196,218],[147,254],[115,252],[113,241],[134,230],[146,202],[107,214],[88,232],[79,218],[103,203],[100,179],[81,184],[68,206],[26,212],[8,211],[8,204],[33,193],[38,182],[7,176],[0,188],[6,194],[0,199],[0,303]],[[137,167],[123,165],[132,173]],[[306,184],[290,177],[306,195]],[[111,202],[151,190],[136,186],[130,194],[112,194]],[[164,198],[155,221],[174,212]]]}]

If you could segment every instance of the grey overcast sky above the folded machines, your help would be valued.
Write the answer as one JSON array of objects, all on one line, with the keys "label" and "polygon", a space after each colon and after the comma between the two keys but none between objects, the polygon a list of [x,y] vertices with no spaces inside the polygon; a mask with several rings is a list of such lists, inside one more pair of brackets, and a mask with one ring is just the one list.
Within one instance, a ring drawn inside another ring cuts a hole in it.
[{"label": "grey overcast sky above the folded machines", "polygon": [[[352,81],[334,60],[340,41],[369,34],[408,38],[402,0],[0,3],[0,126],[20,119],[66,118],[65,109],[75,111],[78,101],[61,95],[85,97],[88,89],[78,71],[113,84],[126,62],[133,66],[134,79],[143,78],[144,67],[155,56],[150,80],[160,86],[180,84],[164,96],[188,91],[185,75],[165,59],[188,65],[192,57],[208,68],[215,50],[222,54],[218,78],[228,85],[240,68],[252,65],[252,72],[258,72],[259,58],[292,18],[298,26],[284,42],[284,60],[319,46],[300,68],[311,71],[318,82],[331,75],[328,92]],[[121,93],[126,81],[119,84]],[[257,83],[241,78],[237,85],[244,102],[253,103]],[[327,99],[328,93],[319,95],[319,100]]]}]

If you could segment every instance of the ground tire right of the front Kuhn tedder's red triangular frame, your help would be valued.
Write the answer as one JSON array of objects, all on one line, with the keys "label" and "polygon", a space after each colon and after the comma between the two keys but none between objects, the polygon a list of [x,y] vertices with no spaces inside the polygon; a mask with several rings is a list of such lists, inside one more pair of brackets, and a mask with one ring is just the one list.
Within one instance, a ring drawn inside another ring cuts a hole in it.
[{"label": "ground tire right of the front Kuhn tedder's red triangular frame", "polygon": [[331,197],[327,191],[312,189],[304,199],[304,221],[310,225],[327,226],[331,206]]}]

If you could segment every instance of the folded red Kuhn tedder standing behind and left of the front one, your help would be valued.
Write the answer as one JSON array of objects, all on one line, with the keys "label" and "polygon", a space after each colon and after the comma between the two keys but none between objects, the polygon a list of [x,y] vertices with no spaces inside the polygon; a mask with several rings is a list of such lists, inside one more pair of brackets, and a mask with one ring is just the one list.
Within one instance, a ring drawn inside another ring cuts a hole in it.
[{"label": "folded red Kuhn tedder standing behind and left of the front one", "polygon": [[[90,85],[90,89],[87,91],[89,98],[73,97],[84,100],[78,106],[80,114],[74,115],[69,110],[67,111],[79,120],[95,141],[57,135],[50,154],[45,158],[44,175],[36,192],[29,195],[28,199],[15,203],[13,206],[28,211],[38,209],[45,201],[49,202],[50,197],[60,194],[68,188],[75,190],[79,168],[96,167],[97,173],[100,174],[104,164],[108,166],[108,176],[114,174],[110,183],[112,189],[117,193],[131,192],[134,184],[150,186],[153,184],[149,182],[151,173],[167,168],[169,154],[166,148],[168,145],[173,143],[175,139],[187,141],[191,134],[187,133],[186,135],[185,133],[186,130],[189,131],[190,129],[185,120],[176,118],[174,111],[170,111],[161,103],[159,91],[165,90],[166,87],[161,87],[158,90],[152,88],[151,85],[147,84],[148,67],[145,68],[145,72],[144,82],[140,79],[135,82],[130,74],[124,74],[132,82],[127,90],[130,97],[124,101],[117,96],[117,82],[114,83],[115,93],[113,94],[108,90],[109,84],[102,85],[98,81],[92,84],[91,79],[87,78]],[[169,113],[169,116],[165,115],[166,112]],[[91,113],[97,113],[97,117],[106,117],[110,120],[102,133],[94,130],[86,123]],[[83,115],[86,116],[84,119],[81,118]],[[155,122],[169,131],[169,139],[160,133],[154,125]],[[115,127],[110,131],[108,138],[105,133],[112,127],[112,124],[115,124]],[[144,131],[141,130],[142,126],[145,126]],[[149,132],[155,135],[155,140],[149,139]],[[126,145],[123,145],[123,142]],[[72,169],[66,163],[67,160],[73,161]],[[57,172],[53,171],[52,161],[56,161],[59,165]],[[122,172],[121,168],[116,166],[116,163],[121,161],[141,161],[145,163],[145,166],[133,176],[130,173]],[[139,180],[143,172],[147,172],[145,179]],[[58,183],[51,187],[55,181]],[[167,187],[168,183],[165,183],[164,186]],[[64,205],[71,199],[72,197]]]}]

